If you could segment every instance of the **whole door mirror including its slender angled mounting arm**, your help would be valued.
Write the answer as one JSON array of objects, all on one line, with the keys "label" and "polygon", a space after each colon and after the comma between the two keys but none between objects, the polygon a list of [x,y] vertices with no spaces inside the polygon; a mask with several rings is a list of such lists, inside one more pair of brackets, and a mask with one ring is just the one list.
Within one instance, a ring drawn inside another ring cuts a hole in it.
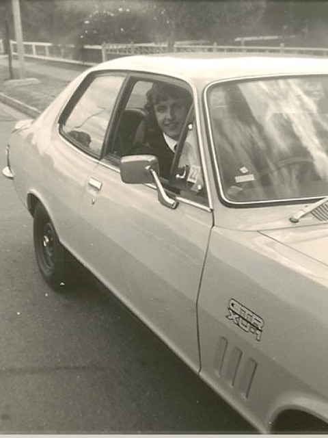
[{"label": "whole door mirror including its slender angled mounting arm", "polygon": [[159,202],[165,207],[176,208],[178,202],[165,193],[159,179],[159,160],[154,155],[126,155],[120,160],[121,179],[128,184],[154,183]]}]

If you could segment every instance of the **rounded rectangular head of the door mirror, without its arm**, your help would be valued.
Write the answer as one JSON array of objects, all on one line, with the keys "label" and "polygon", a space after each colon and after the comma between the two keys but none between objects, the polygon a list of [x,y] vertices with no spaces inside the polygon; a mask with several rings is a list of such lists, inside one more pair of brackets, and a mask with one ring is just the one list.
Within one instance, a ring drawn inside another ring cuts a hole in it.
[{"label": "rounded rectangular head of the door mirror, without its arm", "polygon": [[150,169],[159,175],[159,160],[154,155],[127,155],[120,161],[121,179],[128,184],[153,183]]}]

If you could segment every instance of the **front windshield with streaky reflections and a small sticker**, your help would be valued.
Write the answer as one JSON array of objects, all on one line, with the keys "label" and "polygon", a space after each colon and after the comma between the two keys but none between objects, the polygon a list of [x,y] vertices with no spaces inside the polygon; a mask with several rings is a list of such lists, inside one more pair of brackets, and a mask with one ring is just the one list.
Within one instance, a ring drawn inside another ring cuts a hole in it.
[{"label": "front windshield with streaky reflections and a small sticker", "polygon": [[328,77],[230,82],[207,94],[224,198],[328,195]]}]

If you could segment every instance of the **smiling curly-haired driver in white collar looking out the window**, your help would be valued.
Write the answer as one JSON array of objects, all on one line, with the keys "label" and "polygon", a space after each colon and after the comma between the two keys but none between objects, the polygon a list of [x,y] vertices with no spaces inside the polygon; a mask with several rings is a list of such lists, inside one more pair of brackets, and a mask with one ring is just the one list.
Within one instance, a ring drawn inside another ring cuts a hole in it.
[{"label": "smiling curly-haired driver in white collar looking out the window", "polygon": [[154,83],[146,94],[148,116],[146,143],[135,153],[150,153],[159,159],[161,177],[168,179],[174,158],[174,149],[191,107],[191,94],[178,86]]}]

